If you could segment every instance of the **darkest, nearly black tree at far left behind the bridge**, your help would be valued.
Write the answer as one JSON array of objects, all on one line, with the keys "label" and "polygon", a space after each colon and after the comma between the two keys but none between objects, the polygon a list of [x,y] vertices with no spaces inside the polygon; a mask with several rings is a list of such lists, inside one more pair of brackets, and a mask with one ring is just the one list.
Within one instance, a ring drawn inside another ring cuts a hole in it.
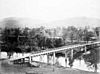
[{"label": "darkest, nearly black tree at far left behind the bridge", "polygon": [[4,48],[1,48],[2,51],[6,51],[10,58],[13,52],[17,52],[18,46],[18,35],[20,35],[19,28],[5,28],[2,33],[2,42],[4,43]]}]

